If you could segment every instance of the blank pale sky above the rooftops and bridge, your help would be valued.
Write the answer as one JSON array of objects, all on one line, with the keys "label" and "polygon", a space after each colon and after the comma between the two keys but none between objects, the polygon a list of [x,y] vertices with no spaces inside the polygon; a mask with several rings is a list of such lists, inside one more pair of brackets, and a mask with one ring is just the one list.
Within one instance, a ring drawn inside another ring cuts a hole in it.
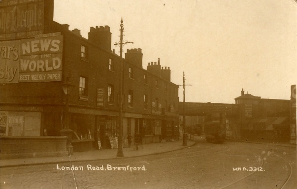
[{"label": "blank pale sky above the rooftops and bridge", "polygon": [[[186,101],[234,103],[244,91],[289,99],[297,83],[297,3],[294,0],[55,0],[54,20],[81,30],[108,25],[119,54],[141,48],[143,67],[157,62],[183,83]],[[182,87],[179,90],[183,100]]]}]

